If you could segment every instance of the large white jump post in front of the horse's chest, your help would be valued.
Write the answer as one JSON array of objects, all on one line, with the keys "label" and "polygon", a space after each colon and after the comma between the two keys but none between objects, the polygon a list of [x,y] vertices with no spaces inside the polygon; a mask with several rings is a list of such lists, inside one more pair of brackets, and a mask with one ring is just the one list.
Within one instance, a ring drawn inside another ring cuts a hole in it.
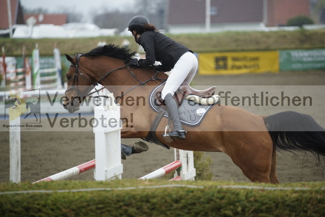
[{"label": "large white jump post in front of the horse's chest", "polygon": [[93,128],[95,134],[96,181],[121,179],[121,123],[120,106],[115,104],[113,95],[104,100],[104,106],[94,108]]}]

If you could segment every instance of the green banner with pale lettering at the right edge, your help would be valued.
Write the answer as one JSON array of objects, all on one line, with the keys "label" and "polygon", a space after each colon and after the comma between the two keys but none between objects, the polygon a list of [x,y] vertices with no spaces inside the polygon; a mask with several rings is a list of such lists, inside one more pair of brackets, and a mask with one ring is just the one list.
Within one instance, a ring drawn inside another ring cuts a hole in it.
[{"label": "green banner with pale lettering at the right edge", "polygon": [[280,50],[280,71],[325,69],[325,49]]}]

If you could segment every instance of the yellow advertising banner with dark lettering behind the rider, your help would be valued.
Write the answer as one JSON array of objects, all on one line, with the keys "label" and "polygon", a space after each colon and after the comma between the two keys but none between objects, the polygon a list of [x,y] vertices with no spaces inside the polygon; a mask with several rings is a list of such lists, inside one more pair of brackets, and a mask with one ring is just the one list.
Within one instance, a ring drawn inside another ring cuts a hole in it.
[{"label": "yellow advertising banner with dark lettering behind the rider", "polygon": [[279,72],[278,51],[199,53],[199,74]]}]

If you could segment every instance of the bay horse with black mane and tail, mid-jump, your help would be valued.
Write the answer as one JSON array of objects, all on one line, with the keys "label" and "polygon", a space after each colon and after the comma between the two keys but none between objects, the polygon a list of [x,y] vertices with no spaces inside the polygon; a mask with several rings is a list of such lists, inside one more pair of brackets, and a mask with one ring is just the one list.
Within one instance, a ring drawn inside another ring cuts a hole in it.
[{"label": "bay horse with black mane and tail, mid-jump", "polygon": [[[102,84],[120,103],[121,118],[129,120],[133,115],[133,125],[123,122],[121,138],[145,138],[156,112],[148,104],[137,106],[123,100],[131,96],[148,98],[152,89],[168,75],[149,68],[129,68],[127,63],[134,55],[135,52],[113,44],[74,57],[66,54],[71,65],[66,75],[67,101],[63,107],[70,113],[79,110],[80,101],[76,99],[88,96],[93,87]],[[163,118],[155,133],[163,143],[161,135],[167,124],[167,118]],[[185,140],[176,139],[168,145],[192,151],[222,151],[253,182],[279,183],[277,149],[311,151],[318,161],[325,157],[325,130],[311,116],[298,112],[261,116],[216,104],[200,125],[184,126],[184,130],[188,132]]]}]

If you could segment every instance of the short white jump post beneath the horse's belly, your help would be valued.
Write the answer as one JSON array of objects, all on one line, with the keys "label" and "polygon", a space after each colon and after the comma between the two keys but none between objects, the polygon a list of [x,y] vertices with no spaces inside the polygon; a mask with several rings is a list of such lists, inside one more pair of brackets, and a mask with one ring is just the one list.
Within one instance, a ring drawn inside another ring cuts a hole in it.
[{"label": "short white jump post beneath the horse's belly", "polygon": [[[175,160],[180,160],[182,162],[182,169],[180,171],[182,180],[194,181],[194,177],[196,176],[196,169],[194,168],[193,151],[186,151],[175,148],[174,153]],[[177,176],[177,172],[175,172],[174,176]]]}]

